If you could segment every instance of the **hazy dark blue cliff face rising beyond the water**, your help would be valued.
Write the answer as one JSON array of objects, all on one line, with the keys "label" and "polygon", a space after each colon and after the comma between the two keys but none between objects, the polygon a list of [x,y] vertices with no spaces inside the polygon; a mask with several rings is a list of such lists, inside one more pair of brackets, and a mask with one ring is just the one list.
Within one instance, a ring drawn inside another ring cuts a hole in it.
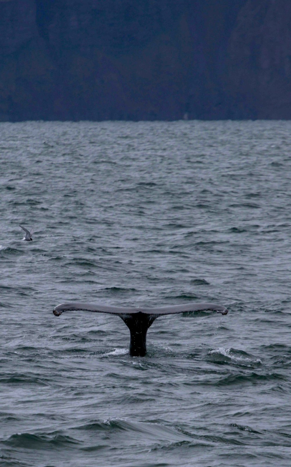
[{"label": "hazy dark blue cliff face rising beyond the water", "polygon": [[0,120],[291,118],[286,0],[0,0]]}]

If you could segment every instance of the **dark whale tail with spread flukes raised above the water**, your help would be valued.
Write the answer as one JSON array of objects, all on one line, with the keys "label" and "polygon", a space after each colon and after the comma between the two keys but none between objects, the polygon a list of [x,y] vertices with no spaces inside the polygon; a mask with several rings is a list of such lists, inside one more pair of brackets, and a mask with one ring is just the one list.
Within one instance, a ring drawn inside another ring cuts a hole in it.
[{"label": "dark whale tail with spread flukes raised above the water", "polygon": [[130,331],[129,355],[133,357],[143,357],[146,354],[147,332],[149,326],[153,324],[158,316],[170,315],[173,313],[184,313],[187,311],[217,311],[222,315],[226,315],[228,312],[225,306],[214,303],[186,303],[182,305],[163,306],[158,308],[133,308],[69,302],[57,305],[53,309],[55,316],[60,316],[64,311],[93,311],[119,316],[128,326]]}]

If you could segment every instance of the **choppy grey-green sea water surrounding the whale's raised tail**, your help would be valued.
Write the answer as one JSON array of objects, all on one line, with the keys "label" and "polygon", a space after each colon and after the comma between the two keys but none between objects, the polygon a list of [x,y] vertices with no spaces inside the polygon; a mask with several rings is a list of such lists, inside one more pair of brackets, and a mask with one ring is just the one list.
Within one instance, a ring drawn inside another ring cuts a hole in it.
[{"label": "choppy grey-green sea water surrounding the whale's raised tail", "polygon": [[[0,123],[1,467],[291,465],[290,148],[290,121]],[[74,300],[229,312],[133,358]]]}]

